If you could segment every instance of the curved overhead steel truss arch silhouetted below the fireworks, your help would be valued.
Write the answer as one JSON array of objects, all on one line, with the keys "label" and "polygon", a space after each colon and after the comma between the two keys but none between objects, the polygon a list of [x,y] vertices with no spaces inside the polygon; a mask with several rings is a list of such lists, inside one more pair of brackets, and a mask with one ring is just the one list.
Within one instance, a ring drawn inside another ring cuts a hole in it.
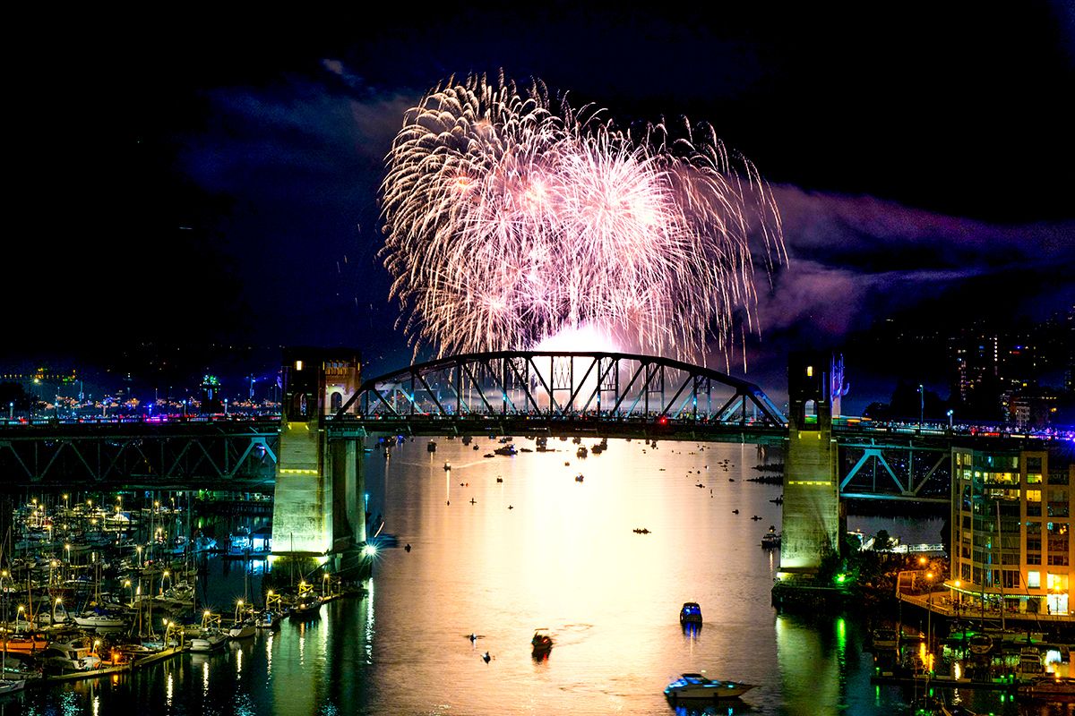
[{"label": "curved overhead steel truss arch silhouetted below the fireworks", "polygon": [[633,353],[492,351],[407,366],[362,382],[334,419],[654,419],[784,428],[756,384]]}]

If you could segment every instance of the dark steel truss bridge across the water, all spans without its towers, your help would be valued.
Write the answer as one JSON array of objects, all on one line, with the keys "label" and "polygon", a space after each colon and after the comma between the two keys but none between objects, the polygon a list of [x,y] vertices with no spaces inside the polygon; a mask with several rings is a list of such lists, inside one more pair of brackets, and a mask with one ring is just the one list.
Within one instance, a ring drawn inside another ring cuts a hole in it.
[{"label": "dark steel truss bridge across the water, all spans without its towers", "polygon": [[[330,439],[564,435],[780,445],[787,422],[754,383],[626,353],[501,351],[367,380],[325,422]],[[837,419],[844,498],[947,502],[954,442],[1026,440]],[[71,483],[269,489],[277,417],[0,425],[0,489]],[[759,477],[761,474],[759,473]]]}]

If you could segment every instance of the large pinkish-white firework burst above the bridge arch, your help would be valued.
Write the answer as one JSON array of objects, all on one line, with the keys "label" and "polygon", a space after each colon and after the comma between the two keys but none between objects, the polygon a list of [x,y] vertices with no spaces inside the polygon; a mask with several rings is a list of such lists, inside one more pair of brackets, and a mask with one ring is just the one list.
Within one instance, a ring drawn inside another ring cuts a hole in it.
[{"label": "large pinkish-white firework burst above the bridge arch", "polygon": [[533,348],[592,327],[617,346],[728,363],[757,331],[754,252],[787,260],[772,193],[712,128],[640,136],[591,106],[449,79],[408,111],[382,185],[385,265],[415,352]]}]

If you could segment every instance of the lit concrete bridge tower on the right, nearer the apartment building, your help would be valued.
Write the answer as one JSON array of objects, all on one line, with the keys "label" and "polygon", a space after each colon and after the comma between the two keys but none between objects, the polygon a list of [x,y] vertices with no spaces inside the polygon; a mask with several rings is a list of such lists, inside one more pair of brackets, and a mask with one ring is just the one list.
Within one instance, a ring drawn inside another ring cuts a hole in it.
[{"label": "lit concrete bridge tower on the right, nearer the apartment building", "polygon": [[840,502],[833,408],[838,411],[843,359],[794,352],[788,360],[788,449],[784,466],[780,571],[813,574],[840,550],[846,515]]}]

